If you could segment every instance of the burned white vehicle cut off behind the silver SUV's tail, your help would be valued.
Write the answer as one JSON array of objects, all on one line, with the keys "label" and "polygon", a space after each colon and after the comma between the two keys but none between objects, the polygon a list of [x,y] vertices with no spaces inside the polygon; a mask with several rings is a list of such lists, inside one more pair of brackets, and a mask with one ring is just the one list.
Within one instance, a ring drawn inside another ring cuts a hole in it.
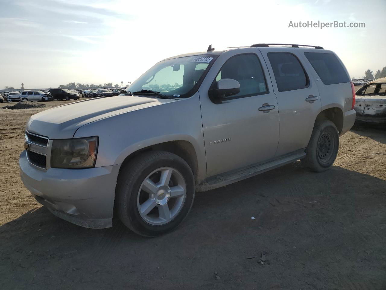
[{"label": "burned white vehicle cut off behind the silver SUV's tail", "polygon": [[378,78],[356,91],[356,120],[386,124],[386,78]]}]

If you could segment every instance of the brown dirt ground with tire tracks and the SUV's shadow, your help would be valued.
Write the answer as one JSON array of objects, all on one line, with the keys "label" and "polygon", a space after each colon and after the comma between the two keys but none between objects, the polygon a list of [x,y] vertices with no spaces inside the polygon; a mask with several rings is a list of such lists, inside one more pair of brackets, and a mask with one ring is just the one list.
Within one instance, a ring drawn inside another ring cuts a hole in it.
[{"label": "brown dirt ground with tire tracks and the SUV's shadow", "polygon": [[18,159],[42,110],[0,109],[0,289],[386,289],[386,131],[354,126],[327,172],[295,162],[198,193],[177,230],[146,239],[30,196]]}]

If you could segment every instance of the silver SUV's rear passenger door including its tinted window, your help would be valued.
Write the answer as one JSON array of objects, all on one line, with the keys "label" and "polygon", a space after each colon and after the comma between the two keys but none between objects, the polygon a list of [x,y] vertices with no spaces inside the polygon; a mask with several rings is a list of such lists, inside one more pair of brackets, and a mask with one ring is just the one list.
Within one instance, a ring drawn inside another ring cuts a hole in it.
[{"label": "silver SUV's rear passenger door including its tinted window", "polygon": [[310,65],[300,61],[295,48],[260,48],[278,99],[280,133],[276,156],[307,147],[322,105]]}]

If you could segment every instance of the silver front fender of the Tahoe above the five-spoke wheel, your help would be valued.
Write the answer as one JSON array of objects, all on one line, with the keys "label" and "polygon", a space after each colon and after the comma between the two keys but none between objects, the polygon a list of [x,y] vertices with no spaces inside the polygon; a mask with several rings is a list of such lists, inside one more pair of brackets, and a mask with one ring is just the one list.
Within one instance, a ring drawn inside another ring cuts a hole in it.
[{"label": "silver front fender of the Tahoe above the five-spoke wheel", "polygon": [[[100,119],[81,126],[74,138],[98,136],[95,167],[122,164],[126,157],[159,143],[183,140],[196,151],[198,172],[205,177],[206,158],[198,93]],[[203,177],[203,178],[204,178]]]}]

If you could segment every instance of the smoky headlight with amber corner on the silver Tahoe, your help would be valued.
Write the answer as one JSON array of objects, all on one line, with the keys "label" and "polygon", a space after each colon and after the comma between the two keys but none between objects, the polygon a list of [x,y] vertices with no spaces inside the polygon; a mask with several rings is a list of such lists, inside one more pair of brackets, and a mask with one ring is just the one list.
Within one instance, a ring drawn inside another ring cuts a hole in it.
[{"label": "smoky headlight with amber corner on the silver Tahoe", "polygon": [[51,167],[90,168],[97,160],[98,137],[52,141]]}]

